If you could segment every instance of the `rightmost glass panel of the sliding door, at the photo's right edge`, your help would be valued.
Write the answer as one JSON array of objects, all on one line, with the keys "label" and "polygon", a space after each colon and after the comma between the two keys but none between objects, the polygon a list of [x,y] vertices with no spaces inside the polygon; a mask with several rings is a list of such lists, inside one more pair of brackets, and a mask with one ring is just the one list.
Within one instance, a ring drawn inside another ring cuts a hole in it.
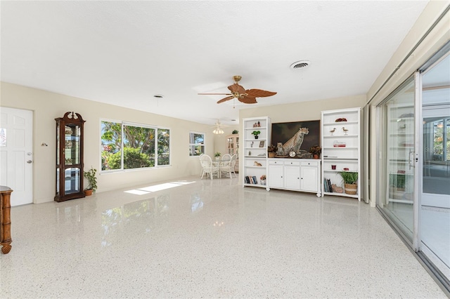
[{"label": "rightmost glass panel of the sliding door, at the photo's right edge", "polygon": [[450,279],[450,55],[422,81],[419,248]]}]

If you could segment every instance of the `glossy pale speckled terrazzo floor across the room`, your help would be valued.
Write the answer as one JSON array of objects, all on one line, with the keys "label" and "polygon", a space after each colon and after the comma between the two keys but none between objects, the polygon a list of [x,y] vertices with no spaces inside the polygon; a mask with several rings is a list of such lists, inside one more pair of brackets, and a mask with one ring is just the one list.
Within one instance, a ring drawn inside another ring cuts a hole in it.
[{"label": "glossy pale speckled terrazzo floor across the room", "polygon": [[375,208],[186,178],[13,207],[1,298],[446,298]]}]

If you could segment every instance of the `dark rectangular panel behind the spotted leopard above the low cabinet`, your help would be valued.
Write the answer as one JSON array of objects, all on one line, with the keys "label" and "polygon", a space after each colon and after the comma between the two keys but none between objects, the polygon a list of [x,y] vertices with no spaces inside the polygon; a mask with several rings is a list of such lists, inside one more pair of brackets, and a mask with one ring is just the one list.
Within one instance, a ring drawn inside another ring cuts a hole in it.
[{"label": "dark rectangular panel behind the spotted leopard above the low cabinet", "polygon": [[292,121],[287,123],[272,124],[271,144],[275,145],[277,142],[283,144],[293,138],[300,128],[308,128],[309,133],[304,135],[302,146],[300,150],[309,152],[309,147],[321,145],[321,121]]}]

